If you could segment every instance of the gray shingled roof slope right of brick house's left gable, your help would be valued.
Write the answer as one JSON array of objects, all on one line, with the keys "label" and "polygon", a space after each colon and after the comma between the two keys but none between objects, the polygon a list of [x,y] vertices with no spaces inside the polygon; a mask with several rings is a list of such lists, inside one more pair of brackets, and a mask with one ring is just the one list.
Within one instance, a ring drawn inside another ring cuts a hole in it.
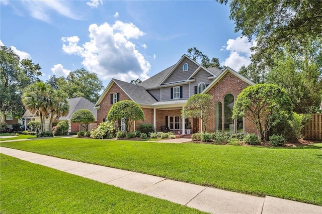
[{"label": "gray shingled roof slope right of brick house's left gable", "polygon": [[145,90],[144,87],[140,85],[134,85],[128,82],[123,82],[121,80],[113,79],[116,84],[118,84],[121,89],[128,94],[128,96],[133,99],[134,102],[140,104],[152,104],[156,99]]}]

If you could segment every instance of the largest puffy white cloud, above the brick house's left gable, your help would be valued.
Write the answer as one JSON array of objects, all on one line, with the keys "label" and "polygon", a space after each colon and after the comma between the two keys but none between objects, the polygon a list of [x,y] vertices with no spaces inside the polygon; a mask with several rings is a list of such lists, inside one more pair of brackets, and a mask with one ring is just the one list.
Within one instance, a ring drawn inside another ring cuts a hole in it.
[{"label": "largest puffy white cloud, above the brick house's left gable", "polygon": [[144,35],[135,25],[121,21],[116,21],[113,25],[92,24],[89,31],[90,41],[82,45],[78,45],[77,36],[61,38],[64,42],[62,50],[67,54],[81,56],[82,64],[102,79],[130,81],[133,78],[148,78],[150,63],[136,49],[135,44],[129,41]]}]

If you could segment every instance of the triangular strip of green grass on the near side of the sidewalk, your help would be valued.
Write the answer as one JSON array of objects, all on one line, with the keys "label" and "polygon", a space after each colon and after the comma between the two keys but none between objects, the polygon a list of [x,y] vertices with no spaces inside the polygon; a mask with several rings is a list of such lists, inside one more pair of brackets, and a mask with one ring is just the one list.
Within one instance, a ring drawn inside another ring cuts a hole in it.
[{"label": "triangular strip of green grass on the near side of the sidewalk", "polygon": [[201,213],[0,154],[1,213]]}]

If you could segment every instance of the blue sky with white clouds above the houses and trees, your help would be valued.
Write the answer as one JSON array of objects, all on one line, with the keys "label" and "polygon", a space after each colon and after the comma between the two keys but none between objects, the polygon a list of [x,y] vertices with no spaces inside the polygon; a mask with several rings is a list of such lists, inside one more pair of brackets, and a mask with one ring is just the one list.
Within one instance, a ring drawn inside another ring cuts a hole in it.
[{"label": "blue sky with white clouds above the houses and trees", "polygon": [[210,1],[0,0],[0,45],[50,76],[84,67],[107,86],[177,63],[188,48],[238,71],[255,44],[234,32],[229,6]]}]

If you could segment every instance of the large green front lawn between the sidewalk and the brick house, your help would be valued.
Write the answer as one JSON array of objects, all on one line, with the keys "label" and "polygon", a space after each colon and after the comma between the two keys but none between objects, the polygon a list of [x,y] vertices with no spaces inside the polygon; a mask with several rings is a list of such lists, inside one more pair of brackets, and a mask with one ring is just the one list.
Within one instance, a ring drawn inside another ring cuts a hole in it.
[{"label": "large green front lawn between the sidewalk and the brick house", "polygon": [[1,146],[322,205],[322,144],[263,148],[57,138]]}]

